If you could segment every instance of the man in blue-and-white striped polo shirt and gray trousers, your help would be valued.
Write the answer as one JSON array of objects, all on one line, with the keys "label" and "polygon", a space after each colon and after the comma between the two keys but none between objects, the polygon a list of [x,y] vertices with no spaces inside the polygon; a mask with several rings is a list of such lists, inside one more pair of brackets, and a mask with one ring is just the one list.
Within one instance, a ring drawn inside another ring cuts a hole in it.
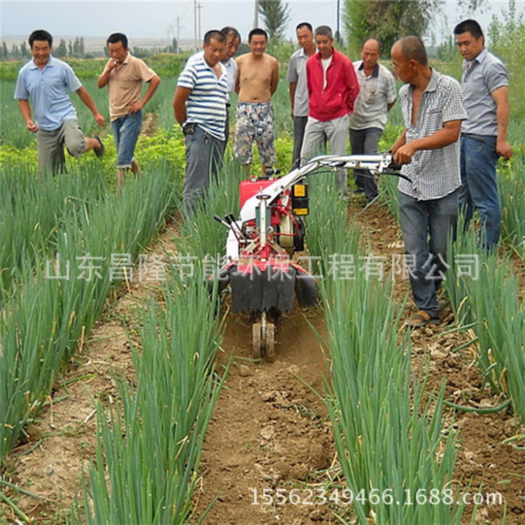
[{"label": "man in blue-and-white striped polo shirt and gray trousers", "polygon": [[228,74],[221,63],[226,38],[221,31],[204,35],[204,55],[179,76],[173,107],[186,136],[183,211],[191,218],[204,196],[210,174],[217,175],[225,147]]}]

